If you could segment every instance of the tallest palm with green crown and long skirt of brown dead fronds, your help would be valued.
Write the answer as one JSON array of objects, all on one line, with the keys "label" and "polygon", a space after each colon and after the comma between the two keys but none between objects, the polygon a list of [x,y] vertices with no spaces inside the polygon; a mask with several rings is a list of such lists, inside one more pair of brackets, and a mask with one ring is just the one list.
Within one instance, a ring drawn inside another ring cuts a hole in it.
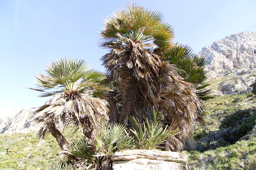
[{"label": "tallest palm with green crown and long skirt of brown dead fronds", "polygon": [[164,123],[178,122],[176,128],[182,132],[177,136],[183,143],[186,134],[192,137],[192,123],[202,106],[194,85],[183,81],[174,65],[163,60],[164,51],[174,46],[174,33],[162,13],[126,4],[105,19],[100,35],[101,47],[109,49],[101,61],[117,81],[116,106],[122,106],[119,122],[127,125],[131,114],[143,122],[155,107]]}]

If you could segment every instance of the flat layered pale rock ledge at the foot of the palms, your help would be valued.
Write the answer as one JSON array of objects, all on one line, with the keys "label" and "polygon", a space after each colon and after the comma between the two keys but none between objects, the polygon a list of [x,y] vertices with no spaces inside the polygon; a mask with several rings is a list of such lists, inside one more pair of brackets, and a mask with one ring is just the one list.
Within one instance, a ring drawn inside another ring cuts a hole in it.
[{"label": "flat layered pale rock ledge at the foot of the palms", "polygon": [[178,170],[183,162],[178,152],[124,150],[112,155],[113,170]]}]

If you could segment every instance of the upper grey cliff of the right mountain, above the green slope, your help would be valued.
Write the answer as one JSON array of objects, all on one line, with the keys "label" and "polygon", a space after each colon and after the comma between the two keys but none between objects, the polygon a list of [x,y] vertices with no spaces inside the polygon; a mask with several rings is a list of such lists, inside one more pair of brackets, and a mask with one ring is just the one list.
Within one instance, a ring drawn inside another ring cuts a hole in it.
[{"label": "upper grey cliff of the right mountain, above the green slope", "polygon": [[204,47],[198,55],[205,57],[206,69],[210,71],[256,68],[256,33],[232,34]]}]

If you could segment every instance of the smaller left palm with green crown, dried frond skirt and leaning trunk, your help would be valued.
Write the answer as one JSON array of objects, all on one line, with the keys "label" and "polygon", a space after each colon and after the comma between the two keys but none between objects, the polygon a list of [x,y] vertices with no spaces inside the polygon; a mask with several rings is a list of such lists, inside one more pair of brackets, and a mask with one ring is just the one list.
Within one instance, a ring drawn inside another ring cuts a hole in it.
[{"label": "smaller left palm with green crown, dried frond skirt and leaning trunk", "polygon": [[39,97],[56,95],[58,99],[36,110],[34,120],[42,123],[39,138],[51,133],[62,150],[67,150],[68,142],[59,129],[74,124],[87,138],[92,137],[100,122],[108,121],[108,108],[105,105],[104,91],[109,89],[100,85],[105,77],[97,70],[89,70],[84,60],[60,58],[46,66],[46,74],[36,76]]}]

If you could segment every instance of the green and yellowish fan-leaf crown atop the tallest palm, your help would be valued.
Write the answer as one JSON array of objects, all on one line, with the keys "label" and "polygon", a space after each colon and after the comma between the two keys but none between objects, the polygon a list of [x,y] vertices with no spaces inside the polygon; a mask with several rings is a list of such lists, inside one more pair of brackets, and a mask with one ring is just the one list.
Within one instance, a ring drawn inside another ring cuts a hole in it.
[{"label": "green and yellowish fan-leaf crown atop the tallest palm", "polygon": [[128,39],[166,48],[170,46],[174,32],[169,24],[164,23],[161,12],[128,3],[123,10],[115,11],[104,20],[100,35],[103,38],[100,45],[104,48],[116,48],[122,45],[121,41],[127,42]]}]

